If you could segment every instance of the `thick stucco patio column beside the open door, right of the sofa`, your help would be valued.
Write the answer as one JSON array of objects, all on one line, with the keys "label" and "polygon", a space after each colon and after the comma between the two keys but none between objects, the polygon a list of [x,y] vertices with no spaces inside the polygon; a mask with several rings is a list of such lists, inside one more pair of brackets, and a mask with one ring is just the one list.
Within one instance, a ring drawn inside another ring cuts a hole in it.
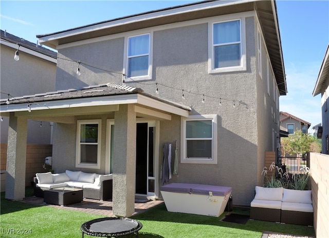
[{"label": "thick stucco patio column beside the open door, right of the sofa", "polygon": [[113,156],[113,214],[129,217],[135,212],[136,112],[134,105],[120,105],[115,112]]}]

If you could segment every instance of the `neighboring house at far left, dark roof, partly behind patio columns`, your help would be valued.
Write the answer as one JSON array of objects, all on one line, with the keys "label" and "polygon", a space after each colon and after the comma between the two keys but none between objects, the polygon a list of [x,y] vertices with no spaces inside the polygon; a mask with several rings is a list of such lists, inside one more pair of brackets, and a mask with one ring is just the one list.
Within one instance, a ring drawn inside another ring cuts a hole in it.
[{"label": "neighboring house at far left, dark roof, partly behind patio columns", "polygon": [[[12,100],[24,95],[55,90],[57,52],[39,44],[29,42],[19,36],[1,30],[0,87],[2,100],[9,105]],[[9,117],[1,116],[0,122],[0,169],[7,168],[7,142]],[[51,168],[45,166],[45,157],[51,155],[52,122],[42,120],[27,121],[27,169],[25,185],[30,185],[36,172]],[[5,179],[2,178],[2,183]],[[1,191],[5,185],[2,184]]]}]

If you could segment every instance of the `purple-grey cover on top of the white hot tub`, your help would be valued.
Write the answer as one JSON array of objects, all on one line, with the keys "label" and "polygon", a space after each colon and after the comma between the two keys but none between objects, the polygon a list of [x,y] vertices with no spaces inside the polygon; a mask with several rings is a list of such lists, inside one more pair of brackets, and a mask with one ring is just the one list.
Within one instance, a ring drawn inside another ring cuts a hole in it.
[{"label": "purple-grey cover on top of the white hot tub", "polygon": [[209,195],[209,192],[212,192],[212,195],[214,196],[225,196],[232,191],[232,188],[205,184],[171,183],[161,186],[160,190],[167,192],[179,192],[201,195]]}]

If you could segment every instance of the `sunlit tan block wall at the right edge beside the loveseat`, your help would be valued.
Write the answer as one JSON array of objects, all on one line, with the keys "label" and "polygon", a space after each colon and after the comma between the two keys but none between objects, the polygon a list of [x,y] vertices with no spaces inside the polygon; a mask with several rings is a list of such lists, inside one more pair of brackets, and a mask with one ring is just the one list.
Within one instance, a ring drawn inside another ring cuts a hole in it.
[{"label": "sunlit tan block wall at the right edge beside the loveseat", "polygon": [[310,153],[314,229],[317,237],[329,237],[329,155]]}]

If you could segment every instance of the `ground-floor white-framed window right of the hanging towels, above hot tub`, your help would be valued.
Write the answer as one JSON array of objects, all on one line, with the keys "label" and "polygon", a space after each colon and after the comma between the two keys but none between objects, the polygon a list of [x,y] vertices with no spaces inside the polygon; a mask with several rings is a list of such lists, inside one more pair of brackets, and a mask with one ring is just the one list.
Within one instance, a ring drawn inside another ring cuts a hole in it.
[{"label": "ground-floor white-framed window right of the hanging towels, above hot tub", "polygon": [[181,163],[217,164],[217,115],[181,119]]}]

